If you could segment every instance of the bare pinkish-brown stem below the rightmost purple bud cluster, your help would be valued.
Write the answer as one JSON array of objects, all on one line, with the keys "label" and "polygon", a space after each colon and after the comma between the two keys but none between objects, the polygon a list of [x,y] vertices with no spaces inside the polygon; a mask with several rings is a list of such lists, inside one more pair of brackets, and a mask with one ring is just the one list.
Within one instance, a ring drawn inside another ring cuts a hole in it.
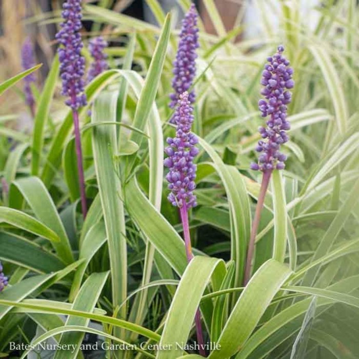
[{"label": "bare pinkish-brown stem below the rightmost purple bud cluster", "polygon": [[267,170],[267,171],[263,172],[261,190],[260,190],[260,194],[258,195],[257,206],[255,207],[254,220],[252,223],[251,236],[249,238],[246,268],[245,268],[245,272],[244,272],[244,281],[243,281],[244,286],[247,285],[247,283],[250,280],[250,276],[251,276],[251,264],[252,264],[252,260],[253,260],[253,254],[254,254],[255,237],[257,235],[258,226],[260,224],[261,213],[262,213],[262,209],[263,209],[263,205],[264,205],[264,199],[266,197],[271,174],[272,174],[272,171]]}]

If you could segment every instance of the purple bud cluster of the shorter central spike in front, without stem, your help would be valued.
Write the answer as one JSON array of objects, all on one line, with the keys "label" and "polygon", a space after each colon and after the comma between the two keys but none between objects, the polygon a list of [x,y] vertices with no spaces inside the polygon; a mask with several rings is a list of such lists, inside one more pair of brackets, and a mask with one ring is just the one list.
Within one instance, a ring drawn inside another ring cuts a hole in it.
[{"label": "purple bud cluster of the shorter central spike in front, without stem", "polygon": [[169,182],[168,188],[171,193],[168,200],[173,206],[179,208],[195,207],[196,196],[193,190],[196,187],[196,165],[193,158],[198,154],[198,138],[191,132],[193,122],[193,108],[189,101],[188,92],[179,96],[174,119],[176,123],[176,135],[174,138],[167,138],[168,147],[165,152],[168,157],[164,165],[170,169],[166,179]]}]

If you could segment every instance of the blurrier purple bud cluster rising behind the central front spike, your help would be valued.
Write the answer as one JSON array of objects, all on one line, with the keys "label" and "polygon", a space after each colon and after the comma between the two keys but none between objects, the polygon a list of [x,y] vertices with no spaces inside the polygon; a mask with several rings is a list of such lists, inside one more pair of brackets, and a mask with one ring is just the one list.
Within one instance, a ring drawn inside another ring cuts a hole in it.
[{"label": "blurrier purple bud cluster rising behind the central front spike", "polygon": [[[179,44],[176,59],[173,62],[172,87],[174,93],[170,95],[170,107],[177,105],[179,95],[188,91],[193,84],[196,73],[195,59],[197,57],[196,49],[198,45],[197,12],[194,4],[191,5],[188,13],[182,21],[181,33],[179,34]],[[191,104],[194,103],[195,95],[191,91],[188,95]],[[171,119],[173,122],[173,118]]]}]

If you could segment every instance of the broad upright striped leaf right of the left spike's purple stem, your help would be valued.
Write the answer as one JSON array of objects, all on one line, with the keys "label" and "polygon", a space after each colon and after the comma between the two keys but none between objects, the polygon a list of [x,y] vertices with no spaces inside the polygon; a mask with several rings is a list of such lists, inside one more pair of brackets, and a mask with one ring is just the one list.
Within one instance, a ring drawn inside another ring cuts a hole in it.
[{"label": "broad upright striped leaf right of the left spike's purple stem", "polygon": [[[91,121],[112,121],[115,125],[116,106],[117,92],[102,92],[93,105]],[[116,307],[127,296],[127,244],[122,184],[113,158],[113,153],[117,153],[114,128],[93,128],[92,151],[109,248],[112,302]],[[119,314],[126,317],[126,306],[121,308]]]}]

